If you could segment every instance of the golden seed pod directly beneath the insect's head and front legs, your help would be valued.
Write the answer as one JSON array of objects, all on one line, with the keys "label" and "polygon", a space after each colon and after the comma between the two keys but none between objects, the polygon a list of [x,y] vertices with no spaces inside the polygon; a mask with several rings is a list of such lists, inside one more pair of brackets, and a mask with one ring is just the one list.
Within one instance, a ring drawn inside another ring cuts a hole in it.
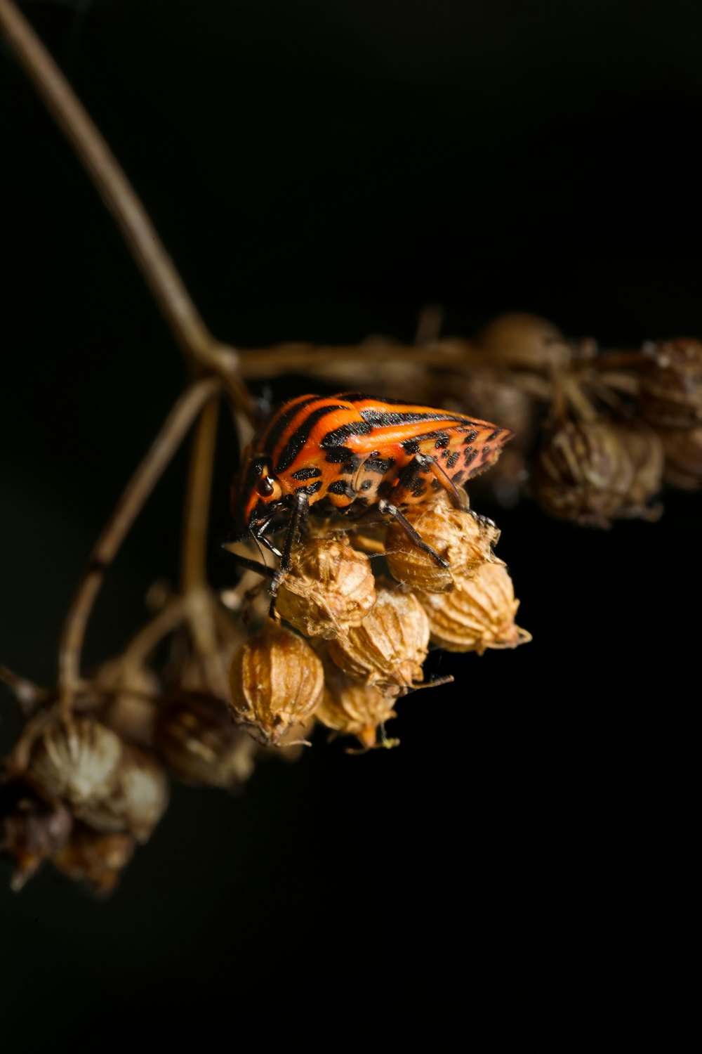
[{"label": "golden seed pod directly beneath the insect's head and front legs", "polygon": [[376,603],[370,561],[345,535],[314,538],[294,553],[276,610],[307,637],[327,639],[359,626]]}]

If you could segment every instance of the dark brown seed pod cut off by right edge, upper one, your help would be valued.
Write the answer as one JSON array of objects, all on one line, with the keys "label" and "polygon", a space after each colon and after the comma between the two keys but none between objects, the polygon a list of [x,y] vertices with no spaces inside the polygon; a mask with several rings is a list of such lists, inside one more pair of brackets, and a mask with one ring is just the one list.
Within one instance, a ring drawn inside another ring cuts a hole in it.
[{"label": "dark brown seed pod cut off by right edge, upper one", "polygon": [[660,428],[697,428],[702,424],[702,341],[677,337],[649,345],[642,370],[639,404],[644,417]]}]

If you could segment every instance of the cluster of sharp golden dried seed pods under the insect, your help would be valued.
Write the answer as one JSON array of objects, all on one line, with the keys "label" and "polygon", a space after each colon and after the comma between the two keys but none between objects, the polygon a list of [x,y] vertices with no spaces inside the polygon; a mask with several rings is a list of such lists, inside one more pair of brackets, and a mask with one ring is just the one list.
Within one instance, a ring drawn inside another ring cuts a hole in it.
[{"label": "cluster of sharp golden dried seed pods under the insect", "polygon": [[515,623],[518,601],[490,521],[443,495],[407,520],[447,567],[397,524],[373,547],[373,564],[353,529],[310,533],[294,550],[280,621],[267,619],[229,671],[234,719],[260,743],[299,741],[314,721],[366,749],[388,745],[385,722],[401,696],[424,686],[432,646],[481,655],[530,639]]}]

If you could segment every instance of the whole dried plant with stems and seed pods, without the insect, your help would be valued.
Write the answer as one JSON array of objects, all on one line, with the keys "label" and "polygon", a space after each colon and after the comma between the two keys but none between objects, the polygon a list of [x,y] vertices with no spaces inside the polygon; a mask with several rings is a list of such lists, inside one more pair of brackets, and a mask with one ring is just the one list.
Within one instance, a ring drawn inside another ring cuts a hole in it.
[{"label": "whole dried plant with stems and seed pods, without the insect", "polygon": [[[363,390],[372,375],[374,394],[514,431],[497,465],[470,483],[472,504],[529,500],[547,515],[608,528],[621,518],[655,521],[666,487],[699,489],[702,343],[602,350],[516,314],[470,339],[446,337],[429,308],[413,345],[374,337],[348,348],[229,348],[207,331],[104,140],[11,0],[0,0],[0,28],[114,213],[192,375],[91,554],[61,633],[56,685],[0,670],[24,718],[0,784],[13,887],[51,862],[104,895],[163,816],[172,780],[235,790],[264,757],[299,756],[315,726],[349,737],[352,753],[394,745],[385,723],[398,700],[426,686],[430,648],[481,655],[529,640],[495,551],[499,528],[443,497],[407,519],[445,570],[397,524],[312,518],[274,617],[255,572],[219,589],[205,554],[222,405],[243,447],[257,424],[249,383],[296,373]],[[154,587],[145,625],[85,672],[82,643],[100,585],[190,428],[179,588]]]}]

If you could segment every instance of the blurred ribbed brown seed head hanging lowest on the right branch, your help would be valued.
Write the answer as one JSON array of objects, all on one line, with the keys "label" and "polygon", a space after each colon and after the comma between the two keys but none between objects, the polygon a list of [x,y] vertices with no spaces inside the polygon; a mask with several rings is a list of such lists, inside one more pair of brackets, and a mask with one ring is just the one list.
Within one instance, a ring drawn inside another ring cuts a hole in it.
[{"label": "blurred ribbed brown seed head hanging lowest on the right branch", "polygon": [[568,421],[544,440],[533,484],[549,515],[609,527],[622,516],[651,515],[644,502],[660,488],[661,468],[659,446],[649,435],[602,418]]}]

